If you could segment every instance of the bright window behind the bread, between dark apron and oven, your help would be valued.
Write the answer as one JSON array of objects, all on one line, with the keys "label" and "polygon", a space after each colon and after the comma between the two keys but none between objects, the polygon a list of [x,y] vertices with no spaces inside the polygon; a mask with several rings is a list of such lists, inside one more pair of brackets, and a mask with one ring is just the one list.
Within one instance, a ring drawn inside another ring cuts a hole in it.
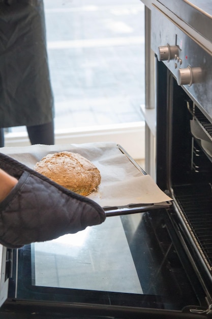
[{"label": "bright window behind the bread, between dark apron and oven", "polygon": [[138,127],[145,99],[141,1],[44,0],[44,8],[55,133]]}]

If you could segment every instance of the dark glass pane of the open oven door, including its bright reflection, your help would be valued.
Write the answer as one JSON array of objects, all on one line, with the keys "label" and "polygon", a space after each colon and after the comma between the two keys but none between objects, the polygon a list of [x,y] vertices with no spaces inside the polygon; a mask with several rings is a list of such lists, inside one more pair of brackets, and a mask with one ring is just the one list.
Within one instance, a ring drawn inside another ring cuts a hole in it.
[{"label": "dark glass pane of the open oven door, including its bright reflection", "polygon": [[24,246],[17,256],[16,299],[176,310],[199,305],[170,227],[161,209],[109,217],[76,234]]}]

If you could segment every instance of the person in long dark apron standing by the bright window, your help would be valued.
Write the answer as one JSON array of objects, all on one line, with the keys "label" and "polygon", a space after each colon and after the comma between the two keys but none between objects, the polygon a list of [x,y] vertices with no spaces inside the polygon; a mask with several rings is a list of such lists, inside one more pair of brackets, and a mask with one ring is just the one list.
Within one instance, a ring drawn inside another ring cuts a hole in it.
[{"label": "person in long dark apron standing by the bright window", "polygon": [[0,147],[23,125],[31,144],[54,144],[53,118],[43,0],[0,0]]}]

